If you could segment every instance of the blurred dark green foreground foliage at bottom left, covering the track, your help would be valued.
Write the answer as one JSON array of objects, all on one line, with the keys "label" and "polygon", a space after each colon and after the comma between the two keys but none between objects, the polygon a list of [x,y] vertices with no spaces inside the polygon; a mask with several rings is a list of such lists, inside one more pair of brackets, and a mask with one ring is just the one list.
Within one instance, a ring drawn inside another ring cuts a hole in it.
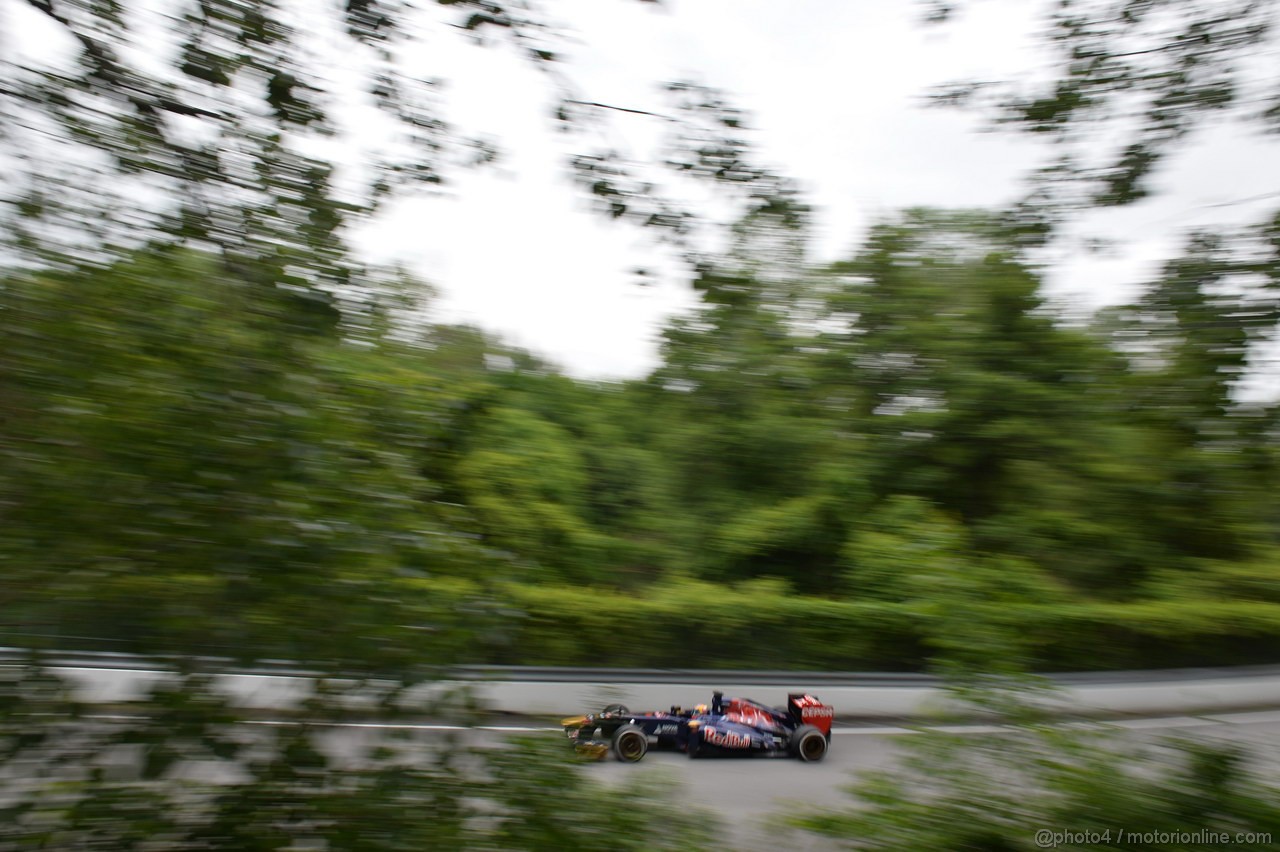
[{"label": "blurred dark green foreground foliage at bottom left, covering the track", "polygon": [[340,697],[247,725],[191,677],[131,705],[128,720],[88,720],[49,674],[6,674],[0,743],[5,769],[22,773],[0,775],[0,846],[390,852],[710,842],[714,820],[677,807],[671,783],[589,785],[554,738],[335,729],[326,723],[343,718]]}]

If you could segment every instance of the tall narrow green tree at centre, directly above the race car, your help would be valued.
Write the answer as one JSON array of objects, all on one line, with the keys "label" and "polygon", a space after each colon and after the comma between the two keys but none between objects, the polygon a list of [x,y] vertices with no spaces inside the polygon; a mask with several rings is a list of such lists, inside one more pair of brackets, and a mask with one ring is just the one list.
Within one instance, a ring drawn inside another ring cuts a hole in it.
[{"label": "tall narrow green tree at centre, directly above the race car", "polygon": [[847,514],[864,490],[860,444],[838,429],[838,391],[815,383],[822,279],[805,266],[795,203],[735,226],[701,270],[700,310],[663,333],[649,377],[668,462],[690,516],[684,546],[707,577],[777,577],[827,592]]}]

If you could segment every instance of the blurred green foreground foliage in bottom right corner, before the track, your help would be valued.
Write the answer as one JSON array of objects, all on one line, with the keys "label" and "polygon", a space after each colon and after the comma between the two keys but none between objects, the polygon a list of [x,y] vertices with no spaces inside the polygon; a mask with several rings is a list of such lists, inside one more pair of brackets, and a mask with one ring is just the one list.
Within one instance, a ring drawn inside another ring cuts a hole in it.
[{"label": "blurred green foreground foliage in bottom right corner, before the track", "polygon": [[1216,848],[1210,832],[1271,848],[1280,791],[1239,748],[1181,741],[1137,751],[1116,739],[1038,727],[989,738],[928,732],[905,743],[899,771],[850,788],[855,809],[790,823],[850,849],[1034,849],[1048,846],[1042,832],[1062,849]]}]

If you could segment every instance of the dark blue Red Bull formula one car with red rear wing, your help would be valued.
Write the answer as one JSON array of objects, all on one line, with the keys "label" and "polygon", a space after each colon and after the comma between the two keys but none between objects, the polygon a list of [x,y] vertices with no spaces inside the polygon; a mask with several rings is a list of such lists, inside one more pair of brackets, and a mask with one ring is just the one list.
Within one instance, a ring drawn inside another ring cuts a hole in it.
[{"label": "dark blue Red Bull formula one car with red rear wing", "polygon": [[561,720],[580,755],[604,757],[609,751],[635,762],[649,748],[684,751],[690,757],[767,752],[804,761],[822,760],[831,745],[835,710],[812,695],[792,693],[787,706],[769,707],[750,698],[712,695],[710,706],[667,713],[632,713],[611,704],[600,713]]}]

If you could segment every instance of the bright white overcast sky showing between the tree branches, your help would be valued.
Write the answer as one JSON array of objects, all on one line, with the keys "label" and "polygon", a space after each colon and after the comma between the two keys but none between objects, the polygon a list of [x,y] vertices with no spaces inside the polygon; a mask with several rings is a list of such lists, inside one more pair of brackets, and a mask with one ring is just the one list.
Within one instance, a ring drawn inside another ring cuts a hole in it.
[{"label": "bright white overcast sky showing between the tree branches", "polygon": [[[695,78],[746,107],[764,159],[799,179],[818,209],[814,260],[847,256],[869,224],[906,206],[1007,202],[1044,154],[1024,137],[980,132],[978,116],[922,105],[929,87],[956,78],[1043,73],[1037,3],[977,3],[945,27],[922,24],[908,0],[548,6],[579,36],[568,70],[588,100],[662,111],[655,83]],[[498,331],[571,375],[654,367],[662,322],[694,303],[678,267],[655,262],[660,249],[635,228],[593,215],[568,184],[536,73],[452,35],[429,52],[451,81],[451,118],[492,133],[511,156],[498,173],[462,175],[456,197],[401,205],[365,246],[436,284],[440,319]],[[627,145],[644,129],[641,119],[620,118],[614,141]],[[1211,129],[1162,175],[1170,192],[1094,216],[1092,233],[1123,248],[1061,253],[1048,292],[1085,307],[1125,301],[1187,228],[1256,216],[1258,205],[1217,206],[1280,189],[1274,146],[1240,137],[1238,127]],[[635,266],[663,270],[660,283],[639,287]]]}]

